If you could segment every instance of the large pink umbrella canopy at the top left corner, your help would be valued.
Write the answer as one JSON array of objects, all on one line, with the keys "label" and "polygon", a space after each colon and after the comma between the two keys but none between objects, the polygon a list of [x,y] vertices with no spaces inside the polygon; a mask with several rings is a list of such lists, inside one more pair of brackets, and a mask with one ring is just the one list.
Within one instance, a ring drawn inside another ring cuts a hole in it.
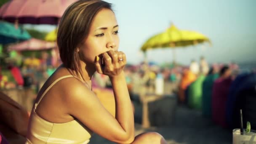
[{"label": "large pink umbrella canopy at the top left corner", "polygon": [[66,8],[77,0],[10,0],[0,8],[0,18],[20,24],[58,24]]}]

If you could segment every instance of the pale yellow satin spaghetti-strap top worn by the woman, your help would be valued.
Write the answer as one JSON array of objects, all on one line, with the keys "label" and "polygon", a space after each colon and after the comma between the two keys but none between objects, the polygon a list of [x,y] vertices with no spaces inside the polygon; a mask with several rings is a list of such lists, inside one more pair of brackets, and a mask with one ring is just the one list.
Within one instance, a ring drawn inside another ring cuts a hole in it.
[{"label": "pale yellow satin spaghetti-strap top worn by the woman", "polygon": [[92,132],[78,120],[67,123],[51,123],[37,115],[35,109],[45,96],[45,93],[57,83],[67,77],[67,75],[55,80],[42,94],[32,110],[29,120],[26,144],[88,144]]}]

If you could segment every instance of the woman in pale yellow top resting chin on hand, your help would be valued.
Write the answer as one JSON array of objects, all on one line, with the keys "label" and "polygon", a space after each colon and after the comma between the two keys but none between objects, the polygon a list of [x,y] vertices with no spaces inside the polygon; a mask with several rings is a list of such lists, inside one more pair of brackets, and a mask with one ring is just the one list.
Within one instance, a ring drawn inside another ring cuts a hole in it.
[{"label": "woman in pale yellow top resting chin on hand", "polygon": [[[87,144],[91,134],[120,144],[165,144],[158,133],[134,138],[131,100],[117,51],[118,25],[111,4],[80,0],[70,5],[59,24],[57,43],[63,64],[48,78],[32,110],[27,143]],[[116,104],[112,116],[91,91],[94,72],[108,75]]]}]

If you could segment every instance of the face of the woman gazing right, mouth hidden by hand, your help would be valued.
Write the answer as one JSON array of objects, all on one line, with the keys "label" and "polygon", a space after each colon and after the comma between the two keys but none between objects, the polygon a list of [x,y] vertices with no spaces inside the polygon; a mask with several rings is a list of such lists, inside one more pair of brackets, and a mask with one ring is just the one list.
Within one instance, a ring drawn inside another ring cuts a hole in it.
[{"label": "face of the woman gazing right, mouth hidden by hand", "polygon": [[79,47],[80,57],[85,62],[93,63],[101,53],[119,47],[118,25],[115,14],[109,9],[102,9],[94,17],[85,42]]}]

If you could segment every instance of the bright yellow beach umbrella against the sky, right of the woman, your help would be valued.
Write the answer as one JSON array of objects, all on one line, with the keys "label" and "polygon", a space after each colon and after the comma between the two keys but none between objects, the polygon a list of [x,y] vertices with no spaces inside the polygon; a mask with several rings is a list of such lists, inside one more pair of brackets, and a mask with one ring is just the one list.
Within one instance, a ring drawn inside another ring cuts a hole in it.
[{"label": "bright yellow beach umbrella against the sky, right of the woman", "polygon": [[[208,37],[194,31],[179,30],[173,24],[165,32],[150,37],[141,47],[141,51],[146,52],[154,48],[176,48],[199,43],[211,43]],[[173,51],[173,61],[175,53]]]}]

